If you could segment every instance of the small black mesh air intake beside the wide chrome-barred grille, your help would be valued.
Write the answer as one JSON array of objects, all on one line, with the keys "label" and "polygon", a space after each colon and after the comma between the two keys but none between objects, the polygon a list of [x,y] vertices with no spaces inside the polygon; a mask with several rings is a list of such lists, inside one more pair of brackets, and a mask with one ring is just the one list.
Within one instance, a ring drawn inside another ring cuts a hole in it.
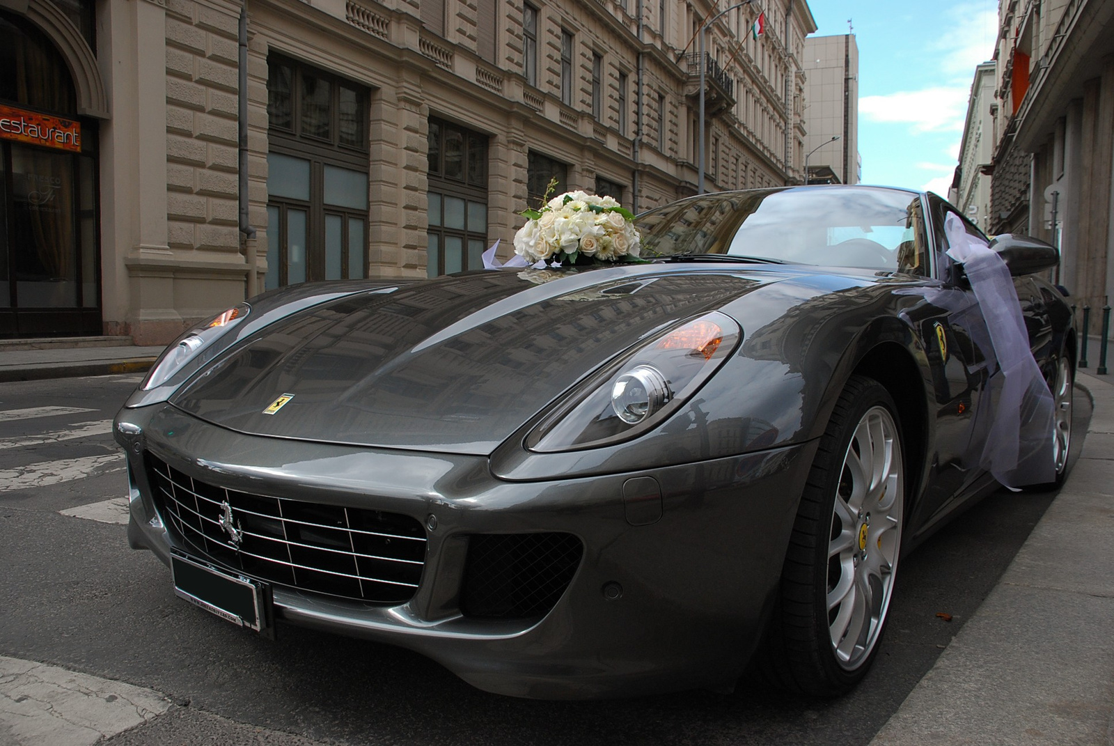
[{"label": "small black mesh air intake beside the wide chrome-barred grille", "polygon": [[460,610],[469,617],[540,617],[568,588],[583,554],[580,540],[566,533],[470,536]]}]

